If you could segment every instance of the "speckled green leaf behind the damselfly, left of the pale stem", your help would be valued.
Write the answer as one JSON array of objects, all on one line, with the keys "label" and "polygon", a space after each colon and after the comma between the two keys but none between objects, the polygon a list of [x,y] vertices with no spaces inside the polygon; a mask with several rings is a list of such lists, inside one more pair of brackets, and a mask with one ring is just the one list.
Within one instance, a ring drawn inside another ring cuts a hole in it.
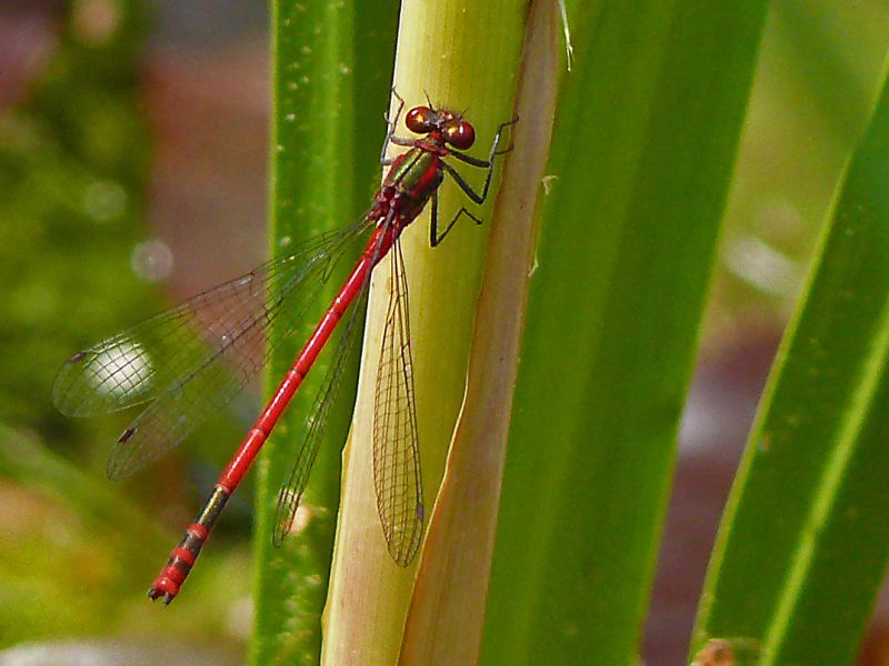
[{"label": "speckled green leaf behind the damselfly, left of the pale stem", "polygon": [[[389,100],[396,20],[397,7],[390,3],[272,3],[272,254],[286,255],[294,243],[357,220],[369,205],[380,172],[379,145],[386,127],[381,115]],[[290,367],[339,280],[334,274],[314,310],[307,313],[303,329],[271,359],[269,389]],[[309,375],[261,458],[251,650],[257,664],[317,664],[320,655],[340,448],[353,386],[341,390],[303,496],[312,518],[282,548],[272,547],[271,532],[278,490],[293,465],[327,362],[322,356]]]}]

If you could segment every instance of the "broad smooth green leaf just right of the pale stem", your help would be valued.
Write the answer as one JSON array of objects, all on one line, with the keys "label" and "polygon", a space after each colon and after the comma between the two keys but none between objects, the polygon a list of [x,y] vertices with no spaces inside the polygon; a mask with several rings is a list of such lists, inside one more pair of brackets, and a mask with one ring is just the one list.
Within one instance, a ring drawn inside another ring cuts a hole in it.
[{"label": "broad smooth green leaf just right of the pale stem", "polygon": [[578,4],[485,664],[636,660],[766,2]]}]

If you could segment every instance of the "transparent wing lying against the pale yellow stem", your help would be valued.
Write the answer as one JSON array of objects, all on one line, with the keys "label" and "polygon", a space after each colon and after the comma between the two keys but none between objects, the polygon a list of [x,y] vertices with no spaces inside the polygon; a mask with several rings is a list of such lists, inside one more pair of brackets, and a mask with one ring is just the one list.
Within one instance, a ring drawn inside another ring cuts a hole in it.
[{"label": "transparent wing lying against the pale yellow stem", "polygon": [[420,546],[423,497],[408,282],[400,243],[396,243],[391,255],[391,292],[373,405],[373,482],[389,554],[399,566],[407,566]]}]

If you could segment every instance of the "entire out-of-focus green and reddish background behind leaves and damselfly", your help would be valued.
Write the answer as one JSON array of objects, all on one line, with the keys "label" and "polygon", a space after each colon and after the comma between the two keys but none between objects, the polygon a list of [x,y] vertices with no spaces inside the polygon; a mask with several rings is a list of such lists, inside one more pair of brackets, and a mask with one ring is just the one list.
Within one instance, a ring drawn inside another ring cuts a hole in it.
[{"label": "entire out-of-focus green and reddish background behind leaves and damselfly", "polygon": [[[117,655],[111,663],[138,663],[140,646],[156,660],[169,650],[167,663],[242,658],[249,486],[189,594],[166,610],[143,594],[256,395],[119,484],[104,477],[104,457],[133,415],[66,418],[51,386],[76,350],[262,261],[267,21],[261,3],[233,0],[0,3],[0,648],[79,640]],[[648,664],[686,653],[752,410],[887,38],[889,8],[876,0],[772,3],[687,406]],[[889,663],[887,636],[883,603],[862,663]]]}]

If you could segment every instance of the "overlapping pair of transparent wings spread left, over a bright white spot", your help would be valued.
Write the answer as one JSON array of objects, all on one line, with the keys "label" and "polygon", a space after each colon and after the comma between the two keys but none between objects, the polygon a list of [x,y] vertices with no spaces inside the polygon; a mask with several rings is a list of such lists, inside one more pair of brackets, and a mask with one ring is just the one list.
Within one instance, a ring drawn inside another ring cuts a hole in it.
[{"label": "overlapping pair of transparent wings spread left, over a bright white spot", "polygon": [[78,352],[56,377],[56,406],[87,416],[150,402],[108,462],[112,478],[134,473],[243,387],[271,351],[264,344],[271,324],[293,331],[337,260],[371,225],[361,220],[321,234],[287,258]]}]

